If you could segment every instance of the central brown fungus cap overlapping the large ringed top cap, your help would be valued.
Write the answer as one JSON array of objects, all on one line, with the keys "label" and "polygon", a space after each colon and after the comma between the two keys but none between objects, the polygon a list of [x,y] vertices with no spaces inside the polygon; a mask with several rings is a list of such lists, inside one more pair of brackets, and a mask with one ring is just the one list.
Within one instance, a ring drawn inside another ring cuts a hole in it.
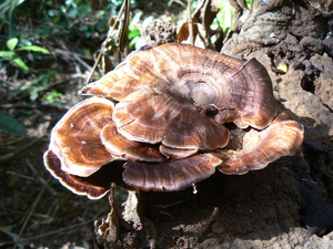
[{"label": "central brown fungus cap overlapping the large ringed top cap", "polygon": [[141,89],[123,98],[115,105],[113,121],[128,139],[161,142],[172,148],[214,149],[229,142],[229,131],[208,106],[188,104],[159,90]]}]

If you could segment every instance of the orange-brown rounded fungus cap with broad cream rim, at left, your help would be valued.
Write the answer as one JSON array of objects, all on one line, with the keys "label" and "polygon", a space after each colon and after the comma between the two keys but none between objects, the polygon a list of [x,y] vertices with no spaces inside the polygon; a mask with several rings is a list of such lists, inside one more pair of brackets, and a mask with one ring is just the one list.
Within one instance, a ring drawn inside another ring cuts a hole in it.
[{"label": "orange-brown rounded fungus cap with broad cream rim, at left", "polygon": [[89,176],[114,159],[101,143],[100,132],[112,118],[113,103],[92,97],[73,106],[53,127],[51,149],[62,170]]}]

